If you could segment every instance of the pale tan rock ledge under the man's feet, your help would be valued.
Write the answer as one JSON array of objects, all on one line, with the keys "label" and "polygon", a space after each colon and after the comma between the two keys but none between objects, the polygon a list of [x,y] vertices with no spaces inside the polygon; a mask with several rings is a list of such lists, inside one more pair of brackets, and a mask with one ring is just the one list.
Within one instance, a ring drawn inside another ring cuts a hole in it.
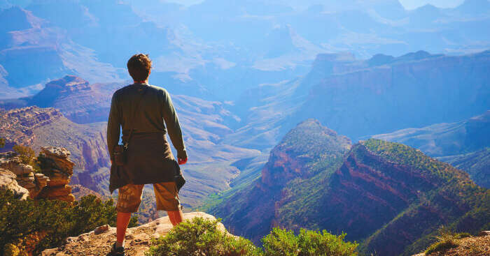
[{"label": "pale tan rock ledge under the man's feet", "polygon": [[[195,212],[184,213],[184,220],[195,217],[202,217],[215,220],[214,216],[207,213]],[[225,232],[223,224],[219,223],[218,228]],[[167,234],[172,229],[169,217],[162,217],[146,223],[139,227],[127,229],[125,247],[127,255],[144,256],[146,250],[150,248],[151,239],[158,238],[160,235]],[[85,255],[106,255],[111,250],[112,243],[116,241],[116,227],[105,225],[97,227],[94,231],[80,234],[80,236],[69,237],[66,243],[59,247],[44,250],[42,256],[85,256]]]}]

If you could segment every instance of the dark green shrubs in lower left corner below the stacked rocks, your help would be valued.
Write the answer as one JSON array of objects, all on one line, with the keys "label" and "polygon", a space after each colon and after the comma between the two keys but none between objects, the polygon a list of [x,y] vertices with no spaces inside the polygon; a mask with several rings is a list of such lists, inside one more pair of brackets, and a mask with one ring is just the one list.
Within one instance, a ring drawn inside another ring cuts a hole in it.
[{"label": "dark green shrubs in lower left corner below the stacked rocks", "polygon": [[[59,200],[18,200],[10,190],[0,190],[0,248],[11,243],[24,248],[34,243],[34,255],[60,246],[68,236],[78,236],[99,225],[116,225],[113,200],[94,195],[72,204]],[[136,218],[130,224],[136,225]],[[32,241],[32,240],[36,241]]]}]

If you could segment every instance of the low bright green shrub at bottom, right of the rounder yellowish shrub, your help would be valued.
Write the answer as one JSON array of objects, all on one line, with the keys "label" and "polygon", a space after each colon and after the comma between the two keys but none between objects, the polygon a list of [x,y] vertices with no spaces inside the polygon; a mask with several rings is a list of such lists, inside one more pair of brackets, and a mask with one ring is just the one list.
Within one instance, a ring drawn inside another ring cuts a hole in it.
[{"label": "low bright green shrub at bottom, right of the rounder yellowish shrub", "polygon": [[293,231],[274,228],[262,239],[266,256],[353,256],[357,255],[356,242],[344,241],[346,234],[335,236],[323,230],[316,232],[300,229],[297,236]]}]

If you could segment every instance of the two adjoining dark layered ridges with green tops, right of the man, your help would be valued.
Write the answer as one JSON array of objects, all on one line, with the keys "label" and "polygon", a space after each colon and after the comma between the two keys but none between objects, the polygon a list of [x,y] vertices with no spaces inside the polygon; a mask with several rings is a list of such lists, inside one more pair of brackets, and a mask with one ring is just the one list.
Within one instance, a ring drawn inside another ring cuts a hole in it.
[{"label": "two adjoining dark layered ridges with green tops, right of the man", "polygon": [[365,255],[412,255],[440,225],[490,227],[489,198],[468,174],[421,151],[375,139],[351,146],[308,120],[274,147],[259,179],[209,211],[254,241],[274,226],[307,227],[346,232]]}]

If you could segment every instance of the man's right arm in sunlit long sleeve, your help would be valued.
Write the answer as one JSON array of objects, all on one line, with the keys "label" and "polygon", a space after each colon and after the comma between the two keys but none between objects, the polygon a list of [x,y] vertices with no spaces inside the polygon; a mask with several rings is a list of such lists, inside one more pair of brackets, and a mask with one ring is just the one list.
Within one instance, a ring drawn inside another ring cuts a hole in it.
[{"label": "man's right arm in sunlit long sleeve", "polygon": [[163,119],[167,125],[167,132],[169,133],[170,140],[174,144],[177,150],[177,158],[179,158],[179,164],[186,163],[187,152],[186,146],[183,142],[181,125],[179,124],[179,116],[175,112],[174,104],[172,103],[172,98],[167,90],[163,91]]}]

